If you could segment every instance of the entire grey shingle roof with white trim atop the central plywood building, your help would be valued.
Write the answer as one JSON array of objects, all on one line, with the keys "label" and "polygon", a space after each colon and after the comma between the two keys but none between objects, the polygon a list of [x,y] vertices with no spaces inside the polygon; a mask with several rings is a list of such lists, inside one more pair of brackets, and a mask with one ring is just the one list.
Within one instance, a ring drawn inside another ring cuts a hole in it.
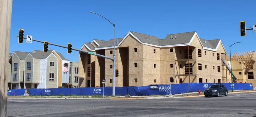
[{"label": "entire grey shingle roof with white trim atop the central plywood building", "polygon": [[[221,43],[220,39],[214,40],[204,40],[200,39],[196,33],[196,31],[192,32],[185,32],[185,33],[177,33],[177,34],[168,34],[164,39],[159,39],[158,37],[137,33],[134,31],[129,31],[124,38],[117,38],[118,43],[115,43],[115,48],[118,48],[120,44],[126,39],[128,35],[134,37],[138,42],[145,45],[150,45],[154,47],[174,47],[174,46],[187,46],[190,45],[194,37],[199,39],[200,44],[202,45],[203,49],[216,51],[218,46]],[[206,43],[204,43],[206,41]],[[94,48],[91,45],[93,42],[97,42],[99,44],[98,47]],[[108,49],[113,48],[113,39],[108,41],[93,39],[91,43],[84,43],[84,45],[80,48],[80,50],[86,46],[91,51],[100,50],[100,49]],[[226,52],[226,50],[224,50]]]}]

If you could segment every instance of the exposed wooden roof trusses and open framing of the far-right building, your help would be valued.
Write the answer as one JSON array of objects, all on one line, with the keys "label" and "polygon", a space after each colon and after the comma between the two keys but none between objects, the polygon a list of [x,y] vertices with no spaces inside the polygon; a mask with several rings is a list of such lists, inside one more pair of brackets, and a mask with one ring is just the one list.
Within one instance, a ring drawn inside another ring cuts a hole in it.
[{"label": "exposed wooden roof trusses and open framing of the far-right building", "polygon": [[234,53],[231,60],[241,61],[243,65],[244,73],[247,74],[247,72],[250,69],[253,69],[253,64],[255,62],[255,60],[253,60],[254,52],[255,51]]}]

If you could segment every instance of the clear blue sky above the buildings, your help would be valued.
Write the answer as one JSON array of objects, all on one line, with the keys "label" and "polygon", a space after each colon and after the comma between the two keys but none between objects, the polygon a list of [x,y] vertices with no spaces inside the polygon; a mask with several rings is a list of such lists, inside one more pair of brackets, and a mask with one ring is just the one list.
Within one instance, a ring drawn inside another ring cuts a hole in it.
[{"label": "clear blue sky above the buildings", "polygon": [[[116,24],[116,38],[135,31],[163,39],[167,34],[196,31],[202,39],[221,39],[229,54],[255,49],[256,33],[246,31],[240,37],[240,21],[246,28],[256,24],[256,1],[253,0],[13,0],[10,53],[43,50],[43,43],[18,44],[18,29],[24,37],[48,41],[80,49],[93,39],[113,39],[113,25],[96,12]],[[78,61],[78,52],[49,45],[70,61]]]}]

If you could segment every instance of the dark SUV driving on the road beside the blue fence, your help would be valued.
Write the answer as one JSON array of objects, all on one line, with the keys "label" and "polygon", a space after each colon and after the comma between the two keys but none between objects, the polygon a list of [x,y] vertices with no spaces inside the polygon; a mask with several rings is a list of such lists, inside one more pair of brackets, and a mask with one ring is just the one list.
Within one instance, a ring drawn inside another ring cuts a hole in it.
[{"label": "dark SUV driving on the road beside the blue fence", "polygon": [[213,84],[204,91],[204,94],[205,94],[205,97],[208,97],[208,96],[220,97],[220,95],[227,96],[227,87],[219,83]]}]

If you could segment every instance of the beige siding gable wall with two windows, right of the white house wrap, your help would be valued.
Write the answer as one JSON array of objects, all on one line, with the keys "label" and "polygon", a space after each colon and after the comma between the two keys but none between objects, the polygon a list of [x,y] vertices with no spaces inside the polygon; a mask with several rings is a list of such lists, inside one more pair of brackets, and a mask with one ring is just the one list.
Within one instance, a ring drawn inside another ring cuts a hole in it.
[{"label": "beige siding gable wall with two windows, right of the white house wrap", "polygon": [[[58,72],[58,59],[51,54],[47,59],[46,59],[46,88],[57,88],[57,72]],[[54,67],[50,66],[50,62],[54,62]],[[49,73],[54,73],[54,81],[49,81]]]}]

